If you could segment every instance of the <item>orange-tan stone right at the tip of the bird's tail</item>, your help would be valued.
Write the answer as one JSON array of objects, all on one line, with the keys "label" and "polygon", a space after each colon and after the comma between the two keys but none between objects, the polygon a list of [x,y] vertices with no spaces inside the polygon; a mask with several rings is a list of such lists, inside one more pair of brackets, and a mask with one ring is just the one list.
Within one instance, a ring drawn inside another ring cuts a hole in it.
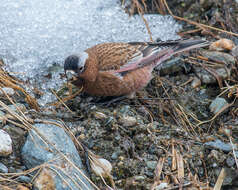
[{"label": "orange-tan stone right at the tip of the bird's tail", "polygon": [[209,49],[214,50],[214,51],[223,51],[223,50],[230,51],[230,50],[232,50],[232,48],[234,48],[234,46],[235,46],[235,44],[233,41],[223,38],[223,39],[213,42],[209,46]]}]

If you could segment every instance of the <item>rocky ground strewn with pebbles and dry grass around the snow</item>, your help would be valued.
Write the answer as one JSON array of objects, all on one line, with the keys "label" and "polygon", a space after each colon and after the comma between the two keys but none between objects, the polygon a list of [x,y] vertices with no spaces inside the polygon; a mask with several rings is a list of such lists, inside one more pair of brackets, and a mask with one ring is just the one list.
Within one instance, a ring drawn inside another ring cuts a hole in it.
[{"label": "rocky ground strewn with pebbles and dry grass around the snow", "polygon": [[[132,2],[145,1],[124,2],[135,14]],[[141,11],[166,13],[159,2]],[[238,5],[174,2],[187,19],[180,35],[215,43],[166,61],[133,100],[105,106],[80,94],[39,107],[1,69],[0,189],[238,189]]]}]

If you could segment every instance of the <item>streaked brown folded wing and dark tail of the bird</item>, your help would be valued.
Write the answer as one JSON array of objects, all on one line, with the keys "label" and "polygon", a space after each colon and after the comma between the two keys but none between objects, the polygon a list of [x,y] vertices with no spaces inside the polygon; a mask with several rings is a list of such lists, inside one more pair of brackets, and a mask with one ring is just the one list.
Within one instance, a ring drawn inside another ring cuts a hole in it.
[{"label": "streaked brown folded wing and dark tail of the bird", "polygon": [[155,43],[104,43],[91,50],[97,55],[99,71],[123,73],[152,63],[156,65],[176,53],[207,45],[205,40],[171,40]]}]

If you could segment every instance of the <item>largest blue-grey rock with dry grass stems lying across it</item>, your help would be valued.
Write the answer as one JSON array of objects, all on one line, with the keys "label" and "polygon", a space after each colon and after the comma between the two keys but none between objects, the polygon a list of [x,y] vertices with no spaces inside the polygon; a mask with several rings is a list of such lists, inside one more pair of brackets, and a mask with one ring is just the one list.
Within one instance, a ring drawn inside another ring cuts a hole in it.
[{"label": "largest blue-grey rock with dry grass stems lying across it", "polygon": [[[23,161],[27,168],[33,168],[45,162],[49,162],[49,167],[52,168],[44,168],[36,177],[34,181],[36,189],[45,189],[45,185],[47,185],[46,189],[54,187],[57,190],[74,190],[79,187],[81,189],[93,189],[88,180],[80,173],[80,171],[83,172],[81,158],[74,143],[65,131],[55,125],[35,124],[34,127],[35,129],[33,128],[29,131],[27,140],[22,148]],[[43,141],[43,139],[45,140]],[[62,154],[70,162],[65,160]],[[45,184],[46,182],[48,184]]]}]

